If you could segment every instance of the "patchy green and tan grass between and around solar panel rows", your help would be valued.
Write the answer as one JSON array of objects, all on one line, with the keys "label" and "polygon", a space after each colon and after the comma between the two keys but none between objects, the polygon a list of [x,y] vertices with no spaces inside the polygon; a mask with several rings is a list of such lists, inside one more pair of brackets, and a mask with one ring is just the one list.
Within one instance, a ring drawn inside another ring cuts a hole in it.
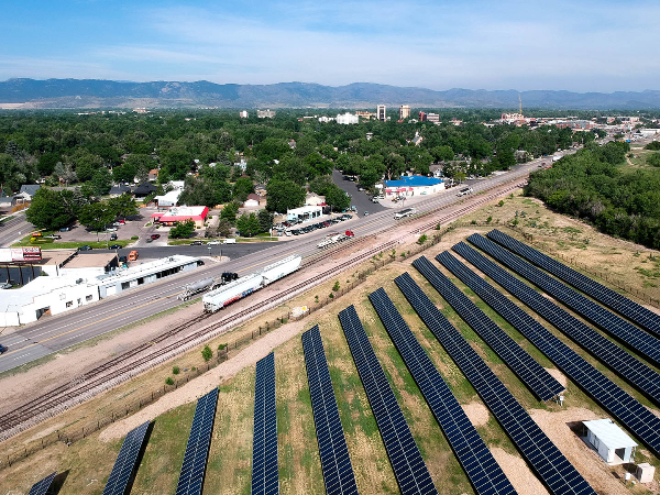
[{"label": "patchy green and tan grass between and around solar panel rows", "polygon": [[[487,227],[471,224],[472,220],[485,222],[488,217],[491,217],[491,223]],[[636,256],[637,249],[632,244],[598,234],[588,226],[557,216],[539,205],[538,201],[518,196],[505,199],[502,207],[494,204],[461,219],[462,224],[466,227],[451,232],[441,244],[427,250],[424,254],[429,260],[433,260],[436,254],[451,248],[453,243],[463,240],[470,233],[474,231],[486,232],[493,227],[502,228],[509,222],[513,223],[515,219],[518,219],[521,229],[534,234],[537,248],[541,245],[547,248],[546,251],[549,253],[561,252],[569,257],[572,255],[580,256],[581,260],[591,263],[590,270],[604,271],[616,275],[635,287],[652,290],[656,294],[654,287],[645,287],[645,280],[649,275],[635,270],[636,262],[644,266],[656,266],[654,264],[642,263],[645,256],[648,258],[647,253]],[[371,292],[384,287],[458,400],[464,406],[481,405],[482,403],[474,388],[466,382],[460,370],[432,333],[424,326],[394,284],[394,277],[404,272],[408,272],[413,276],[449,320],[459,328],[465,339],[471,342],[476,352],[526,409],[543,411],[543,414],[552,416],[565,413],[568,408],[574,408],[591,411],[597,417],[608,416],[570,381],[563,408],[551,402],[540,404],[495,353],[458,317],[430,284],[410,266],[411,261],[402,260],[386,265],[370,275],[364,284],[359,285],[348,296],[341,297],[323,310],[314,312],[304,320],[304,330],[317,323],[321,330],[332,385],[361,494],[398,493],[398,488],[366,394],[337,317],[341,309],[351,304],[355,306],[365,327],[370,342],[385,370],[388,382],[439,492],[448,494],[473,493],[468,477],[367,299]],[[435,261],[433,264],[439,266]],[[451,276],[449,272],[444,268],[441,270],[534,359],[542,366],[553,369],[549,360],[530,342],[499,318],[470,289]],[[312,298],[314,294],[322,294],[322,290],[315,289],[310,294],[311,296],[307,297]],[[524,309],[530,312],[527,308],[524,307]],[[534,314],[531,315],[534,316]],[[548,324],[546,327],[644,405],[657,408],[617,377],[614,372],[597,363],[576,344],[569,341],[557,329]],[[172,363],[166,366],[170,367]],[[322,494],[324,487],[299,334],[275,349],[275,369],[282,493]],[[163,374],[163,371],[161,371],[161,374]],[[209,452],[205,493],[249,494],[252,464],[254,366],[242,370],[233,378],[221,380],[219,386],[220,394]],[[109,394],[111,396],[119,395],[119,391]],[[90,403],[88,407],[91,407],[91,404],[94,403]],[[186,404],[155,419],[148,444],[141,459],[140,469],[131,491],[132,494],[174,492],[194,410],[195,404]],[[515,447],[492,415],[488,414],[487,419],[477,424],[476,427],[491,448],[499,448],[512,458],[520,459]],[[563,428],[568,428],[568,426],[564,425]],[[48,447],[43,452],[30,457],[26,461],[16,463],[11,469],[0,471],[0,494],[10,493],[10,490],[18,491],[11,493],[26,493],[32,483],[55,469],[69,470],[59,492],[61,494],[100,494],[120,446],[121,441],[102,442],[99,440],[98,433],[95,433],[68,448],[62,443]],[[572,462],[593,463],[594,470],[597,470],[600,476],[608,477],[612,481],[610,485],[598,490],[598,493],[649,493],[639,485],[628,491],[628,488],[623,487],[622,483],[615,483],[615,474],[619,472],[607,468],[595,457],[593,460],[588,458],[587,455],[591,455],[591,453],[587,450],[580,452],[564,453]],[[651,462],[660,468],[658,460],[642,447],[638,450],[636,461]],[[595,477],[588,481],[591,483],[598,482]],[[615,491],[610,486],[620,486],[624,492]],[[657,490],[657,486],[653,490]],[[520,493],[524,493],[524,491],[520,491]]]}]

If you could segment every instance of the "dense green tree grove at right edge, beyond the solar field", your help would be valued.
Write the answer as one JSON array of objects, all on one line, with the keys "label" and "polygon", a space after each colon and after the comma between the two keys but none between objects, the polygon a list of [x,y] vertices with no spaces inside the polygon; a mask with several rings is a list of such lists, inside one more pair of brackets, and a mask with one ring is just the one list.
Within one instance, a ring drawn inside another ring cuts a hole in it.
[{"label": "dense green tree grove at right edge, beyond the solar field", "polygon": [[622,169],[629,144],[587,144],[531,174],[525,191],[603,232],[660,249],[660,170]]}]

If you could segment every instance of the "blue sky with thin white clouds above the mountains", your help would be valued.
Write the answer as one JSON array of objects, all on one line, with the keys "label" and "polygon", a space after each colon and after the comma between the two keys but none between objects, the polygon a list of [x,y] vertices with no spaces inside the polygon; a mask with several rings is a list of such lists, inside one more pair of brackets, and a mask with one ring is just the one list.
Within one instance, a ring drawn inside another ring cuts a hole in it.
[{"label": "blue sky with thin white clouds above the mountains", "polygon": [[4,2],[0,80],[660,89],[658,1]]}]

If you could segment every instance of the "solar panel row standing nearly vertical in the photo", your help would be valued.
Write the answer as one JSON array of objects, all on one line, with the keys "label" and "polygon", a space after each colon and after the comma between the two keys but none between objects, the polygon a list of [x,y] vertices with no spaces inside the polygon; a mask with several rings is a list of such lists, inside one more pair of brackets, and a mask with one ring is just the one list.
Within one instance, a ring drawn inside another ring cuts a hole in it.
[{"label": "solar panel row standing nearly vertical in the photo", "polygon": [[275,407],[275,354],[256,363],[254,380],[254,439],[252,493],[279,493],[277,473],[277,410]]}]

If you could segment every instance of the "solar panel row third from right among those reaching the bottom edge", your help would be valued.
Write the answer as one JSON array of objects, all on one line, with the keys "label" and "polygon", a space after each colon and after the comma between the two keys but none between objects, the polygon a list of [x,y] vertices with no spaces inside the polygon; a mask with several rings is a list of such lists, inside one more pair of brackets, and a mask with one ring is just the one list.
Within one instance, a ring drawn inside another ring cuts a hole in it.
[{"label": "solar panel row third from right among those reaching the bottom edge", "polygon": [[353,306],[339,314],[355,367],[376,418],[385,450],[403,495],[437,494],[406,418],[396,402],[364,327]]}]

